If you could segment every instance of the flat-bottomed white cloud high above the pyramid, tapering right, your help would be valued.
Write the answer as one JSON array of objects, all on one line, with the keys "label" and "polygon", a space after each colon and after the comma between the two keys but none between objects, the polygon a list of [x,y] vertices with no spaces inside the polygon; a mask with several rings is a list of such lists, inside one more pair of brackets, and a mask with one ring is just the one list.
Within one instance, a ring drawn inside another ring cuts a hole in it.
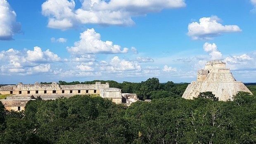
[{"label": "flat-bottomed white cloud high above the pyramid, tapering right", "polygon": [[203,17],[198,22],[192,22],[188,25],[188,33],[193,40],[211,40],[213,37],[222,35],[222,33],[241,32],[237,25],[225,25],[218,23],[220,19],[217,16]]}]

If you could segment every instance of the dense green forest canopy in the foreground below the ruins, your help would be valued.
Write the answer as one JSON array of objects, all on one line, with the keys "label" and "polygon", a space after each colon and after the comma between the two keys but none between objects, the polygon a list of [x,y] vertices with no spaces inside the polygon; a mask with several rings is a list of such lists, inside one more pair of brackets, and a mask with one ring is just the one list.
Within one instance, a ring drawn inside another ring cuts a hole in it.
[{"label": "dense green forest canopy in the foreground below the ruins", "polygon": [[256,98],[234,101],[173,95],[127,107],[101,97],[26,104],[22,112],[0,103],[1,144],[255,144]]}]

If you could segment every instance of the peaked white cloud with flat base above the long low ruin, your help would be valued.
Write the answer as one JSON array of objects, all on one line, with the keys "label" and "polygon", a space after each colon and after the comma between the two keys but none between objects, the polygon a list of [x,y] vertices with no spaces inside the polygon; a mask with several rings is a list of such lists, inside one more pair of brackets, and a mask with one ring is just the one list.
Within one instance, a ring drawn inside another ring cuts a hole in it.
[{"label": "peaked white cloud with flat base above the long low ruin", "polygon": [[79,41],[74,43],[74,47],[67,47],[70,53],[79,54],[116,54],[116,53],[127,53],[128,48],[113,45],[113,42],[100,40],[100,33],[96,33],[94,29],[87,29],[83,33],[80,33]]}]

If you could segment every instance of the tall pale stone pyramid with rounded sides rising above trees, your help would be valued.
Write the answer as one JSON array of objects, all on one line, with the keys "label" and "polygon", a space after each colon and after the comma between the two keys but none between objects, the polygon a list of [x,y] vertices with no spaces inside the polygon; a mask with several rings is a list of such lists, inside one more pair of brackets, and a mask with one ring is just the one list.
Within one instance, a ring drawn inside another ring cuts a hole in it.
[{"label": "tall pale stone pyramid with rounded sides rising above trees", "polygon": [[220,101],[232,100],[239,91],[252,94],[244,83],[235,80],[230,68],[226,68],[226,63],[220,60],[207,61],[205,68],[197,71],[197,81],[187,86],[182,97],[193,99],[198,97],[199,92],[207,91],[215,94]]}]

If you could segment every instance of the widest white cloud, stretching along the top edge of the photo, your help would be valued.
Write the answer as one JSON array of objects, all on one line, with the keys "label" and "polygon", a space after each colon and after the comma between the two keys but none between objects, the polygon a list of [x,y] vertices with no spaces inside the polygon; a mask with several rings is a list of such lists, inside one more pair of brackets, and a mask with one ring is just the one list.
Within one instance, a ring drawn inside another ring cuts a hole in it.
[{"label": "widest white cloud, stretching along the top edge of the photo", "polygon": [[47,0],[42,14],[48,27],[66,30],[78,24],[132,26],[132,17],[160,12],[162,9],[185,7],[185,0]]}]

